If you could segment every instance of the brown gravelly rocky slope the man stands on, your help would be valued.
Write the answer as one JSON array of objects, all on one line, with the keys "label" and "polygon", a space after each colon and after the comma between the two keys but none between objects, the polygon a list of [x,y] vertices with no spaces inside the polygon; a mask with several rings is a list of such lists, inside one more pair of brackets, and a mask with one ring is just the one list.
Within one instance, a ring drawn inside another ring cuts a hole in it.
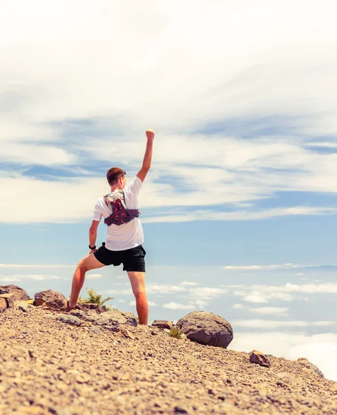
[{"label": "brown gravelly rocky slope the man stands on", "polygon": [[0,313],[1,415],[337,414],[337,383],[298,362],[262,367],[162,329],[114,333],[19,304]]}]

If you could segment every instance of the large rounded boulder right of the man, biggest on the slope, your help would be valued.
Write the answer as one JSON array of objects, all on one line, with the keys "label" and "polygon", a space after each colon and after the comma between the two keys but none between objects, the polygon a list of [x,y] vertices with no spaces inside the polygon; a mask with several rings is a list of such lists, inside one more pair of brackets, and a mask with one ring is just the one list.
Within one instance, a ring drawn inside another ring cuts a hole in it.
[{"label": "large rounded boulder right of the man, biggest on the slope", "polygon": [[214,313],[193,311],[175,324],[193,342],[227,349],[233,340],[231,324]]}]

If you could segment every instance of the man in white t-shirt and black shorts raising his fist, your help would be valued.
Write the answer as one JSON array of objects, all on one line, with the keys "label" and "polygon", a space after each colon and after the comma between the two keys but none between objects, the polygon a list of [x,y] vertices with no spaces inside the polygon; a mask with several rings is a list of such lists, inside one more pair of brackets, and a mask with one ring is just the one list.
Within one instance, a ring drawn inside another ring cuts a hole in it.
[{"label": "man in white t-shirt and black shorts raising his fist", "polygon": [[[146,130],[146,151],[142,168],[129,185],[126,185],[126,173],[119,167],[113,167],[106,173],[110,193],[97,200],[93,223],[89,230],[90,253],[79,261],[73,277],[68,310],[76,307],[79,292],[84,284],[88,270],[113,264],[123,264],[131,282],[136,300],[139,324],[148,324],[148,302],[145,291],[146,252],[142,248],[144,235],[139,220],[137,195],[151,167],[153,140],[155,133]],[[106,242],[96,248],[97,228],[102,217],[108,225]]]}]

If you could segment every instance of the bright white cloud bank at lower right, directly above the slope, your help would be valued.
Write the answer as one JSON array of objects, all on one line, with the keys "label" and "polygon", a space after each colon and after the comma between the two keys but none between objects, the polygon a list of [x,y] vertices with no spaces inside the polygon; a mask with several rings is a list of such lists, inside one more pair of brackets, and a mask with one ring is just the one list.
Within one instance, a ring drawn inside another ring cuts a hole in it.
[{"label": "bright white cloud bank at lower right, directly above the slope", "polygon": [[253,349],[273,356],[297,360],[307,358],[317,365],[325,378],[337,381],[337,334],[322,333],[285,333],[280,331],[235,332],[228,347],[231,350],[246,351]]}]

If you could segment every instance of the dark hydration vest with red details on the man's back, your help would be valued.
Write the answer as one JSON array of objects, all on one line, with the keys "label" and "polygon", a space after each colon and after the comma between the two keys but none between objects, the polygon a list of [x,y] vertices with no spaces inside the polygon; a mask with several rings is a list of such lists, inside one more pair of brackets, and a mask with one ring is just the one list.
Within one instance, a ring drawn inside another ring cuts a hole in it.
[{"label": "dark hydration vest with red details on the man's back", "polygon": [[123,190],[115,190],[113,194],[106,194],[106,196],[104,196],[104,201],[112,211],[110,216],[104,219],[104,223],[108,226],[119,226],[139,217],[140,212],[138,209],[126,208]]}]

